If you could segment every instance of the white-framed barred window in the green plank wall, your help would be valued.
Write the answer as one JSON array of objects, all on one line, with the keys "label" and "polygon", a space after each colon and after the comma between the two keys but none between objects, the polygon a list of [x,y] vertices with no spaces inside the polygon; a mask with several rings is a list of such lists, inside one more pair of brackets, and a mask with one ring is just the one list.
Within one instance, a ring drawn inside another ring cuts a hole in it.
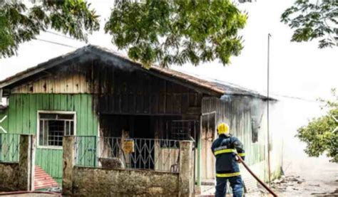
[{"label": "white-framed barred window in the green plank wall", "polygon": [[63,136],[74,135],[72,112],[39,112],[39,146],[62,147]]}]

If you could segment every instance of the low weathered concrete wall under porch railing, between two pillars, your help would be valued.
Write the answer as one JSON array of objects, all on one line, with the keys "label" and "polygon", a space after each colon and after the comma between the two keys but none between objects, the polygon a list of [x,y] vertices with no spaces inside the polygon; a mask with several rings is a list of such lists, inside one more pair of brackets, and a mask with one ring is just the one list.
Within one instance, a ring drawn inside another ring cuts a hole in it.
[{"label": "low weathered concrete wall under porch railing, between two pillars", "polygon": [[175,173],[74,167],[75,196],[178,196]]}]

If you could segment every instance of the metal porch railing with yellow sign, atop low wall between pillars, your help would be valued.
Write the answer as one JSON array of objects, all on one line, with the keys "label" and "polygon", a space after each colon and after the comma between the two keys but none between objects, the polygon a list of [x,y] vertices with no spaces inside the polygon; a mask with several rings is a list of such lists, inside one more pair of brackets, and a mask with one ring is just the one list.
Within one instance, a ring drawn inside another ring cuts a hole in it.
[{"label": "metal porch railing with yellow sign, atop low wall between pillars", "polygon": [[75,148],[77,166],[179,171],[178,140],[76,137]]}]

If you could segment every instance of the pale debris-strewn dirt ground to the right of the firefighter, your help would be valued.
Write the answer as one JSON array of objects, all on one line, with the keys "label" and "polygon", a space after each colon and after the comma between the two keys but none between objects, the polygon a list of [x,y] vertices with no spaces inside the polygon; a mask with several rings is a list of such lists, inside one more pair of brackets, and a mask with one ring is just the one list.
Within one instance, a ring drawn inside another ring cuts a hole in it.
[{"label": "pale debris-strewn dirt ground to the right of the firefighter", "polygon": [[[285,176],[271,184],[278,196],[338,197],[338,164],[319,158],[292,158],[285,162]],[[246,196],[265,196],[264,188]]]}]

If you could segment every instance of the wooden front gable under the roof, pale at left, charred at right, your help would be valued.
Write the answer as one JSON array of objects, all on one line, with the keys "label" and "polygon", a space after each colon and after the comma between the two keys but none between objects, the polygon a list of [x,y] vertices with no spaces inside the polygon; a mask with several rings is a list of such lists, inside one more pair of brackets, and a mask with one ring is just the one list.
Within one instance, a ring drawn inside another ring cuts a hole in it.
[{"label": "wooden front gable under the roof, pale at left, charred at right", "polygon": [[195,115],[198,111],[199,115],[201,93],[150,75],[138,65],[113,65],[92,58],[38,73],[15,84],[11,92],[93,94],[94,110],[100,114]]}]

